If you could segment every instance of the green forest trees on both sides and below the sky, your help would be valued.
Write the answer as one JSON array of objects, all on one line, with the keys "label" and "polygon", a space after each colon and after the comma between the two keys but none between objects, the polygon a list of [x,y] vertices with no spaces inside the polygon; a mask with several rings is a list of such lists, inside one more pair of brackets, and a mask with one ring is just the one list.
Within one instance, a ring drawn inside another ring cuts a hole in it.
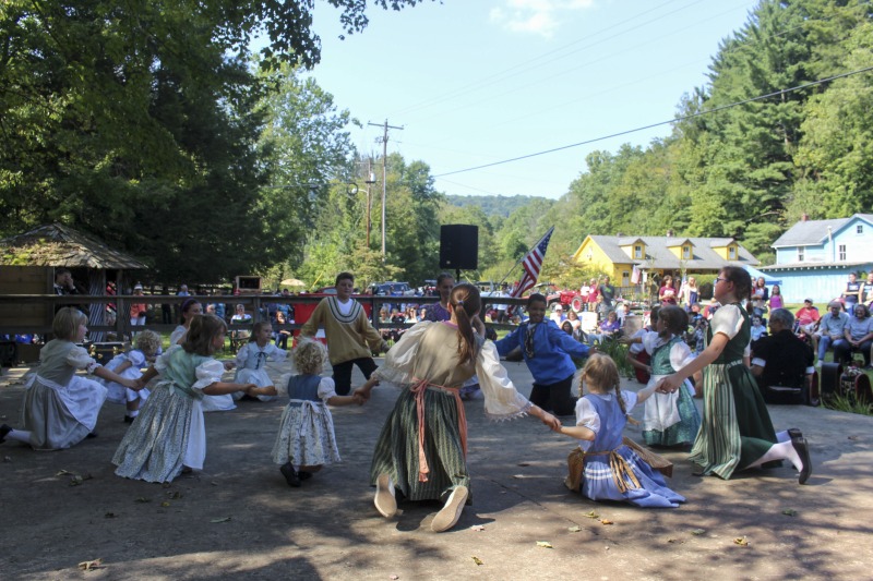
[{"label": "green forest trees on both sides and below the sky", "polygon": [[[569,258],[587,234],[736,237],[766,261],[801,214],[873,207],[869,1],[761,1],[708,83],[677,95],[667,137],[591,153],[559,201],[446,197],[427,160],[364,159],[354,110],[297,69],[319,57],[306,5],[230,4],[3,4],[0,235],[60,221],[146,261],[156,280],[256,271],[315,286],[342,269],[361,283],[432,278],[441,223],[478,225],[468,275],[502,277],[554,225],[543,277],[575,283]],[[366,25],[361,4],[338,4]],[[253,62],[259,26],[274,41]]]}]

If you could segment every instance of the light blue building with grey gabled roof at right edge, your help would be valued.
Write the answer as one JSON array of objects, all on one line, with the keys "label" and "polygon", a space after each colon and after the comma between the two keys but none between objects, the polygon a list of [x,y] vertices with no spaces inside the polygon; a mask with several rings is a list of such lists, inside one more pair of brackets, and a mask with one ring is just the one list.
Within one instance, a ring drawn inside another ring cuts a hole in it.
[{"label": "light blue building with grey gabled roof at right edge", "polygon": [[776,264],[758,267],[781,279],[785,301],[827,302],[846,289],[849,273],[859,280],[873,267],[873,214],[801,221],[773,243]]}]

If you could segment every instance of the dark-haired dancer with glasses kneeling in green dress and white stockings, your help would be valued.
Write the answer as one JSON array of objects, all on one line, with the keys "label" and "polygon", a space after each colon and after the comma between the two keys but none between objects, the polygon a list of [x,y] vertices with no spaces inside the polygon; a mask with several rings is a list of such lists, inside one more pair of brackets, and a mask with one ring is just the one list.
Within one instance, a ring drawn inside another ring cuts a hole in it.
[{"label": "dark-haired dancer with glasses kneeling in green dress and white stockings", "polygon": [[751,325],[740,301],[749,299],[752,279],[737,266],[726,266],[715,280],[721,307],[707,330],[707,347],[689,365],[661,379],[658,389],[673,392],[703,370],[703,423],[691,450],[702,470],[725,480],[738,470],[790,461],[803,484],[812,472],[806,439],[797,428],[776,434],[767,407],[749,368]]}]

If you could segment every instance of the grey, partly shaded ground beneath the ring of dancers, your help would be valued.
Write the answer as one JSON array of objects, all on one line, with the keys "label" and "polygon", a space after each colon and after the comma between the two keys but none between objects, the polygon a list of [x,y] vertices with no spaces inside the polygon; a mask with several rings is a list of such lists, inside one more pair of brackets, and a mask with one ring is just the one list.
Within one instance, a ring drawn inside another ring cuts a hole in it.
[{"label": "grey, partly shaded ground beneath the ring of dancers", "polygon": [[[529,390],[526,367],[506,366]],[[3,370],[3,423],[19,423],[23,372]],[[809,485],[788,468],[697,479],[685,455],[671,452],[671,485],[687,504],[643,510],[570,493],[562,481],[571,440],[534,419],[489,423],[482,403],[468,402],[475,505],[454,530],[434,534],[436,505],[402,505],[392,521],[372,507],[369,461],[395,398],[382,387],[363,408],[335,410],[344,461],[296,489],[270,460],[282,402],[207,414],[205,471],[169,485],[112,474],[127,427],[121,407],[107,403],[99,437],[70,450],[8,441],[0,579],[870,578],[873,417],[772,407],[777,429],[798,426],[812,445]],[[84,480],[71,485],[61,471]],[[79,570],[96,558],[103,568]]]}]

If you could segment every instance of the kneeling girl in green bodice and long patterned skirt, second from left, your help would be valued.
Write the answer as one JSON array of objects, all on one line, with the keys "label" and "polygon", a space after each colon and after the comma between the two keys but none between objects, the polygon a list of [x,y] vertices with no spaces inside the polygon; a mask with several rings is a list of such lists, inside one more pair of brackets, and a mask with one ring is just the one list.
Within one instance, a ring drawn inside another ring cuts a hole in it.
[{"label": "kneeling girl in green bodice and long patterned skirt, second from left", "polygon": [[225,368],[212,358],[225,343],[227,325],[215,315],[198,315],[181,346],[172,346],[140,378],[160,375],[112,457],[116,474],[146,482],[170,482],[188,470],[202,470],[206,458],[204,395],[247,390],[252,385],[222,382]]}]

